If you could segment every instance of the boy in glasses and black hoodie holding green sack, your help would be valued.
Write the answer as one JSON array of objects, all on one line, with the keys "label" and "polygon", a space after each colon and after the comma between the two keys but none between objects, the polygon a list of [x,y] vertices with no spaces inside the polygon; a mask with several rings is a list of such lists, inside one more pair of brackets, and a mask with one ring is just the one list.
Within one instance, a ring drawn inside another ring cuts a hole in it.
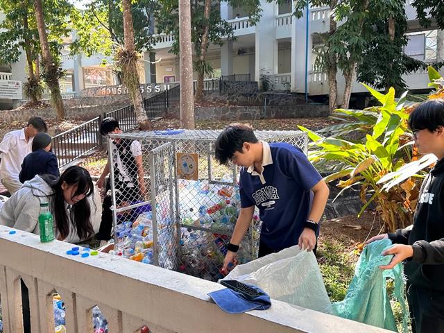
[{"label": "boy in glasses and black hoodie holding green sack", "polygon": [[438,162],[422,182],[413,225],[367,241],[389,238],[383,255],[393,259],[382,269],[406,260],[407,299],[413,333],[444,332],[444,100],[420,104],[409,117],[415,145]]}]

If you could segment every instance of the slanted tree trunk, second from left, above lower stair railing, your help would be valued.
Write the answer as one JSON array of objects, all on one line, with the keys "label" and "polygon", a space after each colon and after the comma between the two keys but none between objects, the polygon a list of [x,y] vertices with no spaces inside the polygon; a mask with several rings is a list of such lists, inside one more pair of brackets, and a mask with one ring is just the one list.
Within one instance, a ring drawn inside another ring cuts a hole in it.
[{"label": "slanted tree trunk, second from left, above lower stair railing", "polygon": [[58,119],[65,118],[65,108],[63,106],[62,95],[60,94],[60,85],[58,83],[58,66],[54,63],[51,51],[49,50],[48,36],[46,35],[46,26],[44,25],[44,15],[42,0],[34,0],[35,21],[39,32],[40,47],[42,49],[42,66],[45,74],[45,80],[51,91],[51,101],[57,112]]}]

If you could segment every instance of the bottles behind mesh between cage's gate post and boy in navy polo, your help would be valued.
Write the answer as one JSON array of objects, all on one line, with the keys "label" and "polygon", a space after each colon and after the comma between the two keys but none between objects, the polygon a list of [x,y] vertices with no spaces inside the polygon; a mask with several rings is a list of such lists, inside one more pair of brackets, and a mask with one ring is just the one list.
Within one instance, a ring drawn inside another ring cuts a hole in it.
[{"label": "bottles behind mesh between cage's gate post and boy in navy polo", "polygon": [[[182,224],[199,228],[182,228],[180,271],[205,280],[223,278],[221,267],[227,253],[226,244],[240,210],[239,187],[209,185],[206,180],[182,180],[179,196]],[[254,219],[259,221],[259,216],[255,214]],[[255,239],[257,230],[253,232]],[[252,254],[253,241],[247,237],[241,243],[237,258],[240,263],[248,262],[253,259]]]}]

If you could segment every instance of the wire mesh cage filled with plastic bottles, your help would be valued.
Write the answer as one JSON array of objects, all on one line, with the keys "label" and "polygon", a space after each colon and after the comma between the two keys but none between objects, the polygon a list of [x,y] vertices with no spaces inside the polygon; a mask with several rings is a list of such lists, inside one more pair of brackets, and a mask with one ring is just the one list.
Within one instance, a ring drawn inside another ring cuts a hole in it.
[{"label": "wire mesh cage filled with plastic bottles", "polygon": [[[222,278],[240,210],[238,169],[220,165],[220,130],[121,133],[108,139],[114,238],[121,255],[206,280]],[[307,153],[300,131],[255,131],[259,140],[287,142]],[[130,184],[122,189],[123,185]],[[257,257],[261,222],[255,212],[238,262]]]}]

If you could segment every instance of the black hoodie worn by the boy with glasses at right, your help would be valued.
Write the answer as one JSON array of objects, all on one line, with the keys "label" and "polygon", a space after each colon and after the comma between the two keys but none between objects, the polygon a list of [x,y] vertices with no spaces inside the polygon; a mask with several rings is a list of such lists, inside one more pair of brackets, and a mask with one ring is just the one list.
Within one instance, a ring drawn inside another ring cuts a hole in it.
[{"label": "black hoodie worn by the boy with glasses at right", "polygon": [[388,238],[413,246],[404,267],[411,284],[444,291],[444,158],[422,182],[413,228],[388,233]]}]

